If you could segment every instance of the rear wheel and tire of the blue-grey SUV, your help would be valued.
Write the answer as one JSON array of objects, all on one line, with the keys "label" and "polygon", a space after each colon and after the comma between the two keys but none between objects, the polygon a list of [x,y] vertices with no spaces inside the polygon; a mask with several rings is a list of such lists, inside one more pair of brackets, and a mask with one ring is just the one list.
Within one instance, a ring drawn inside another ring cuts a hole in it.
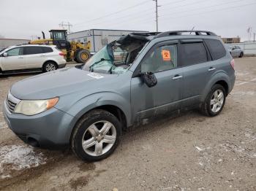
[{"label": "rear wheel and tire of the blue-grey SUV", "polygon": [[214,85],[206,96],[206,100],[201,106],[201,112],[206,116],[217,116],[225,105],[226,92],[222,85]]}]

